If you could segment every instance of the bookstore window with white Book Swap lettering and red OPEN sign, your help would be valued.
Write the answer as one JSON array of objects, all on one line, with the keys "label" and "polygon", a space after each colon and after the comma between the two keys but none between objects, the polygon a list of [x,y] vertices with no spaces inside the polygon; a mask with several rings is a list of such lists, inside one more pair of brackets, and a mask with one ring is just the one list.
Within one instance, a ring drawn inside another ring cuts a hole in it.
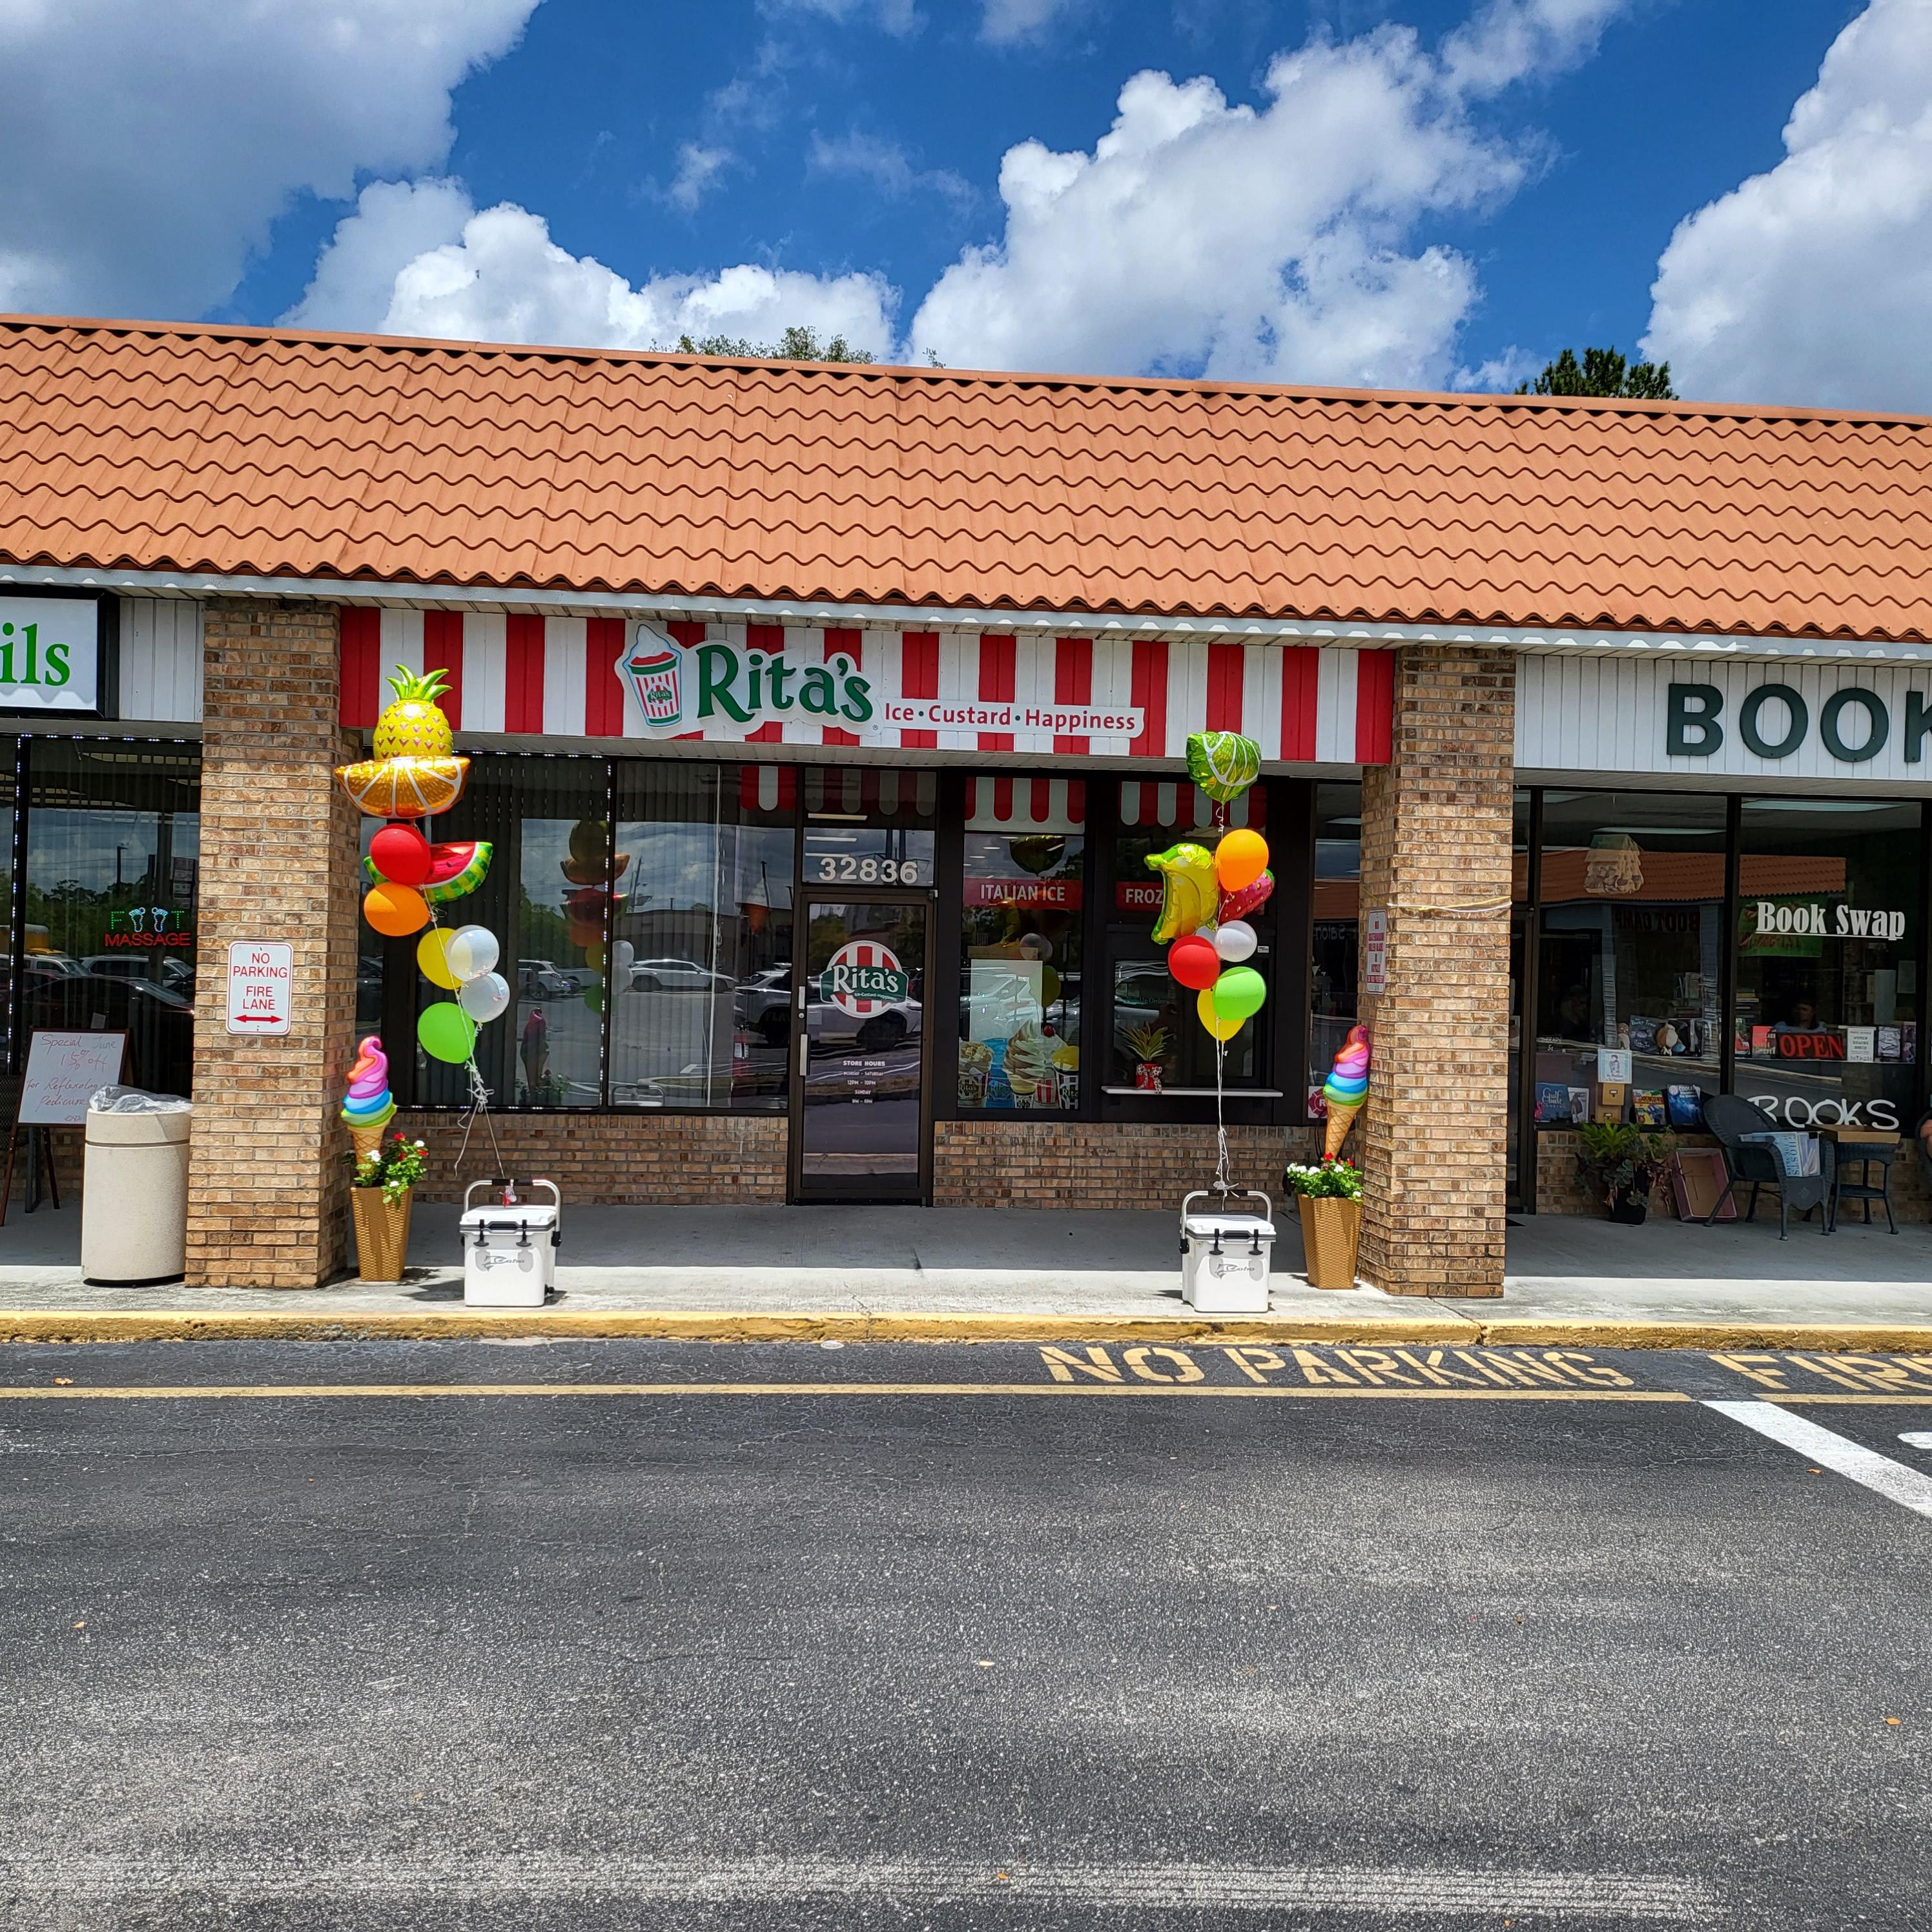
[{"label": "bookstore window with white Book Swap lettering and red OPEN sign", "polygon": [[1918,1117],[1920,808],[1747,798],[1735,1086],[1789,1126]]}]

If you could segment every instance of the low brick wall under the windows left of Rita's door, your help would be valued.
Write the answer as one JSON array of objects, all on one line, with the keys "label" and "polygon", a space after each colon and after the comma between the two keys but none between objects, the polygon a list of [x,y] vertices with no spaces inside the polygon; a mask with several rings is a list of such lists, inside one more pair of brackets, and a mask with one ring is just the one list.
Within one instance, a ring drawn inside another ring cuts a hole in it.
[{"label": "low brick wall under the windows left of Rita's door", "polygon": [[578,1206],[784,1200],[784,1115],[504,1113],[491,1115],[489,1130],[477,1122],[468,1153],[456,1115],[400,1113],[396,1130],[429,1144],[429,1173],[417,1190],[429,1202],[462,1200],[471,1180],[502,1171],[491,1130],[512,1175],[545,1175]]}]

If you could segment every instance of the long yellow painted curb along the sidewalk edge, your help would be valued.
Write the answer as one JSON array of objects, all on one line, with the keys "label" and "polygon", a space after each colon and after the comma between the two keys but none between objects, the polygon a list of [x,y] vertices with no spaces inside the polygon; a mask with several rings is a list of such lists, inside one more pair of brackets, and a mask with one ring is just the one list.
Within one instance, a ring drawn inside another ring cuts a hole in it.
[{"label": "long yellow painted curb along the sidewalk edge", "polygon": [[641,1341],[1225,1341],[1434,1343],[1492,1349],[1696,1349],[1816,1354],[1932,1354],[1932,1323],[1855,1321],[1619,1321],[1497,1316],[922,1316],[740,1314],[734,1310],[0,1310],[0,1341],[491,1341],[630,1337]]}]

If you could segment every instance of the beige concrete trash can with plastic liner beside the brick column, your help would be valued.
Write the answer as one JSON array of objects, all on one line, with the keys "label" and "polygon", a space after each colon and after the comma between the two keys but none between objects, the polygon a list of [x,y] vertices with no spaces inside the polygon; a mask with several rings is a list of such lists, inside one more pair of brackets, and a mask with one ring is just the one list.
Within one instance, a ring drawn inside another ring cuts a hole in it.
[{"label": "beige concrete trash can with plastic liner beside the brick column", "polygon": [[[110,1107],[102,1101],[116,1095]],[[153,1105],[135,1109],[135,1101]],[[102,1287],[180,1281],[187,1271],[187,1126],[172,1094],[106,1088],[87,1109],[81,1273]]]}]

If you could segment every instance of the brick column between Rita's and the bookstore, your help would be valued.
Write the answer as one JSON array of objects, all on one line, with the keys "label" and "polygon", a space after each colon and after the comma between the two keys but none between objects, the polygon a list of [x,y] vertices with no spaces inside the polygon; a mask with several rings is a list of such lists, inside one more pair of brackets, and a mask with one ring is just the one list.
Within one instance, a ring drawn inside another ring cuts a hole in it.
[{"label": "brick column between Rita's and the bookstore", "polygon": [[1362,775],[1362,910],[1389,916],[1374,1041],[1362,1275],[1391,1294],[1501,1294],[1517,663],[1410,645],[1393,757]]}]

